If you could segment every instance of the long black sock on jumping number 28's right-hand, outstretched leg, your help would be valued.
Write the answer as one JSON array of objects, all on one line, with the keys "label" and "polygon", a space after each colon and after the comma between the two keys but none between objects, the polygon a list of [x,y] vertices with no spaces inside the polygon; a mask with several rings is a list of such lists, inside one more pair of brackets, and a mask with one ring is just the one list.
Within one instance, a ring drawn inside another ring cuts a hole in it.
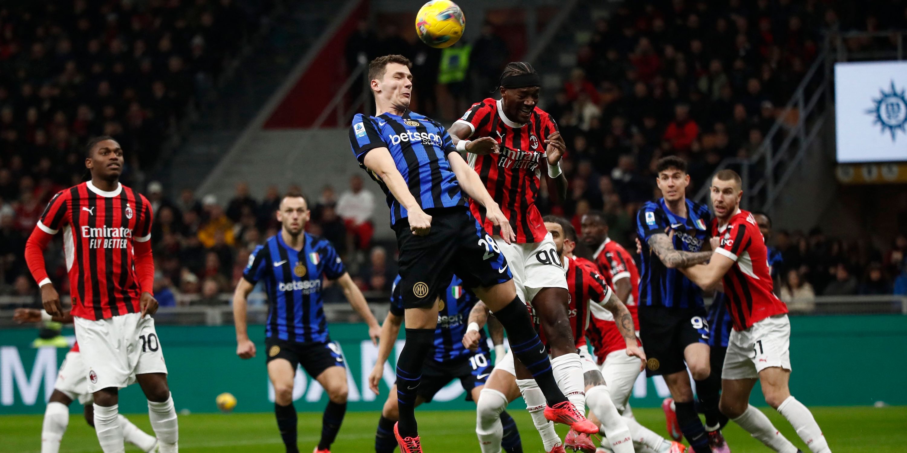
[{"label": "long black sock on jumping number 28's right-hand, outstretched leg", "polygon": [[504,326],[513,355],[532,373],[532,378],[545,394],[548,405],[553,406],[566,401],[567,397],[558,388],[558,382],[554,380],[554,374],[551,372],[548,352],[541,344],[538,333],[532,329],[532,320],[529,319],[526,304],[523,304],[519,297],[514,297],[510,304],[494,312],[494,317]]}]

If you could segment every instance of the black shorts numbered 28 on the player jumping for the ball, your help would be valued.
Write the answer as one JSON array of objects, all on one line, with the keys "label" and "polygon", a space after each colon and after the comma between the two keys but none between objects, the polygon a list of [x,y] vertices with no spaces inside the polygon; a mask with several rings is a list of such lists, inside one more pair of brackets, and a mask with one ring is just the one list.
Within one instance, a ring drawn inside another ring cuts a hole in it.
[{"label": "black shorts numbered 28 on the player jumping for the ball", "polygon": [[409,218],[397,221],[394,230],[400,250],[400,294],[404,308],[434,304],[451,284],[455,273],[467,288],[501,284],[512,275],[507,260],[491,235],[466,207],[426,209],[432,217],[427,236],[415,236]]}]

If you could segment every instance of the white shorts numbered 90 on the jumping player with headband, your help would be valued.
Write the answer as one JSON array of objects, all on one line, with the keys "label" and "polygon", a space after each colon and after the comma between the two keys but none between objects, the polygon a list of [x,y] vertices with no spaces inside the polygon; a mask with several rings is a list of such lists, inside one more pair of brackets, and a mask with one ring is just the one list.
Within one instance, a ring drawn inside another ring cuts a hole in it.
[{"label": "white shorts numbered 90 on the jumping player with headband", "polygon": [[516,294],[523,304],[531,304],[535,294],[542,288],[567,289],[567,275],[561,267],[561,257],[551,233],[541,242],[507,244],[501,236],[494,236],[494,242],[501,249],[516,284]]}]

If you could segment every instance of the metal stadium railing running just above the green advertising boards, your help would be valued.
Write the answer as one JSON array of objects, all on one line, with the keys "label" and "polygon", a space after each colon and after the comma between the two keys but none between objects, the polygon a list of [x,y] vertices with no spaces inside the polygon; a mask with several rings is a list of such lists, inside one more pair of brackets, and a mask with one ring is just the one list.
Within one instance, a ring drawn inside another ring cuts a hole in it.
[{"label": "metal stadium railing running just above the green advertising boards", "polygon": [[[366,293],[369,307],[375,317],[384,320],[387,315],[387,294]],[[222,305],[192,305],[200,300],[198,294],[180,294],[175,307],[161,307],[154,314],[154,322],[165,325],[229,325],[233,323],[232,294],[219,294]],[[710,300],[706,304],[711,304]],[[19,325],[13,321],[17,306],[38,307],[31,296],[0,296],[0,328]],[[68,306],[66,301],[63,306]],[[814,300],[793,301],[787,304],[792,315],[817,314],[898,314],[907,315],[907,295],[841,295],[817,296]],[[249,323],[263,324],[268,315],[268,305],[263,294],[249,295]],[[361,323],[359,315],[349,304],[325,304],[328,323]]]}]

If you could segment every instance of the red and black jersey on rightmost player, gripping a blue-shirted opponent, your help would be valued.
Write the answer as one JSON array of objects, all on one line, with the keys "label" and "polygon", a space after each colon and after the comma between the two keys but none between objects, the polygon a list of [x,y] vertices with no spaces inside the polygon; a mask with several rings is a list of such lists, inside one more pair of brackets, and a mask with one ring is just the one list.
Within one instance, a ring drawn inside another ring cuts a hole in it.
[{"label": "red and black jersey on rightmost player, gripping a blue-shirted opponent", "polygon": [[715,253],[735,261],[721,280],[734,330],[746,330],[769,316],[787,313],[787,305],[775,296],[766,239],[753,215],[738,209],[725,226],[712,220],[712,236],[721,237]]}]

